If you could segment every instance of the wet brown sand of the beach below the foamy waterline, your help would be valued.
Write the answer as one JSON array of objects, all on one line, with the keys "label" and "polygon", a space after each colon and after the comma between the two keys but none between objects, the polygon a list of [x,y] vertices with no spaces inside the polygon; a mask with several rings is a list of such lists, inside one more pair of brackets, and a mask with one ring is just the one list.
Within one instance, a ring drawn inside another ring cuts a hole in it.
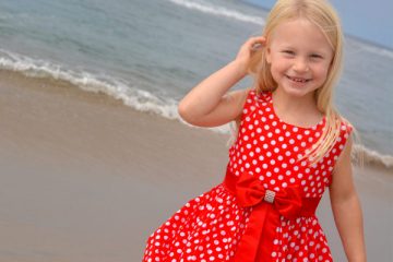
[{"label": "wet brown sand of the beach below the foamy waterline", "polygon": [[[145,240],[219,183],[228,134],[68,82],[0,71],[0,261],[141,261]],[[369,261],[392,261],[393,175],[355,167]],[[325,192],[318,210],[345,261]]]}]

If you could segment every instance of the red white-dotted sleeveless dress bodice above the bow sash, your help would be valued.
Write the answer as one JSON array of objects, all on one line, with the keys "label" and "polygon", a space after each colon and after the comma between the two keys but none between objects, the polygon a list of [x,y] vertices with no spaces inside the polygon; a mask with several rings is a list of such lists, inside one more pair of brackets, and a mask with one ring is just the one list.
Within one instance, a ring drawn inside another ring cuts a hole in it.
[{"label": "red white-dotted sleeveless dress bodice above the bow sash", "polygon": [[229,148],[229,169],[236,176],[248,171],[267,189],[279,191],[300,186],[306,198],[322,196],[331,183],[334,164],[343,151],[352,127],[342,122],[333,147],[317,164],[301,158],[322,135],[326,119],[310,128],[284,122],[274,111],[272,92],[248,93],[239,133]]}]

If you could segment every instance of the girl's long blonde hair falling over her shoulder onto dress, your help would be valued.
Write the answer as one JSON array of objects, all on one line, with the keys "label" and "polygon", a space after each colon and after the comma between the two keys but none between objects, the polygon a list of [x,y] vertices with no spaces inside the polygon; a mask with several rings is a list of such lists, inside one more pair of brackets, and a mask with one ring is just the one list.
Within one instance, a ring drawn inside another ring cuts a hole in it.
[{"label": "girl's long blonde hair falling over her shoulder onto dress", "polygon": [[[306,151],[301,159],[308,158],[309,165],[321,160],[330,152],[336,139],[340,136],[341,124],[346,122],[333,105],[333,91],[336,84],[343,63],[343,32],[340,17],[331,4],[325,0],[278,0],[269,13],[262,35],[266,38],[265,46],[270,45],[271,35],[283,22],[295,19],[307,19],[318,26],[324,34],[333,50],[333,59],[324,84],[314,92],[318,109],[325,115],[325,126],[322,135],[312,148]],[[249,73],[254,78],[257,94],[261,92],[274,92],[277,88],[266,61],[266,49],[257,50],[249,64]],[[352,124],[350,124],[352,126]],[[236,128],[238,132],[238,127]],[[355,131],[355,128],[354,128]],[[357,134],[357,132],[354,132]],[[299,159],[298,159],[299,160]]]}]

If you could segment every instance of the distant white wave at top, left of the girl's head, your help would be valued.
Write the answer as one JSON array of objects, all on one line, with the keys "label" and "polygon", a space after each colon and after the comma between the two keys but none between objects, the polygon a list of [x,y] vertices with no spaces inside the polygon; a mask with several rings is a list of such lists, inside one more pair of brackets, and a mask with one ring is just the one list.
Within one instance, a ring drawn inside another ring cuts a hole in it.
[{"label": "distant white wave at top, left of the girl's head", "polygon": [[235,19],[241,22],[253,23],[258,25],[264,25],[265,23],[262,17],[245,14],[235,10],[229,10],[224,7],[214,5],[211,3],[196,2],[190,0],[168,0],[168,1],[191,10],[198,10],[203,13]]}]

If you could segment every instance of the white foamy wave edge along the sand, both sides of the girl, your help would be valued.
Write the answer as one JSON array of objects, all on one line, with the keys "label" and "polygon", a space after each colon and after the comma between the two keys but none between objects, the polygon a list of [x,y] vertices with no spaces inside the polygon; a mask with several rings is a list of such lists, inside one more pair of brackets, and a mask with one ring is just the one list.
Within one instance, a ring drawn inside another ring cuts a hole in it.
[{"label": "white foamy wave edge along the sand, both sides of the girl", "polygon": [[[177,120],[191,128],[206,129],[198,128],[184,122],[178,114],[177,100],[168,97],[158,97],[148,91],[132,87],[130,83],[127,83],[123,80],[116,80],[107,75],[95,75],[85,71],[76,72],[59,64],[12,53],[1,49],[0,70],[17,72],[28,78],[66,81],[83,91],[93,93],[102,92],[110,97],[120,99],[126,106],[130,106],[135,110],[155,114],[170,120]],[[222,134],[230,134],[234,132],[231,123],[209,129],[213,132]],[[235,135],[235,133],[233,133],[233,135]],[[364,163],[366,165],[393,169],[393,156],[391,155],[382,155],[379,152],[367,148],[364,145],[355,144],[354,153],[357,152],[362,153]],[[357,162],[358,159],[354,160]]]}]

